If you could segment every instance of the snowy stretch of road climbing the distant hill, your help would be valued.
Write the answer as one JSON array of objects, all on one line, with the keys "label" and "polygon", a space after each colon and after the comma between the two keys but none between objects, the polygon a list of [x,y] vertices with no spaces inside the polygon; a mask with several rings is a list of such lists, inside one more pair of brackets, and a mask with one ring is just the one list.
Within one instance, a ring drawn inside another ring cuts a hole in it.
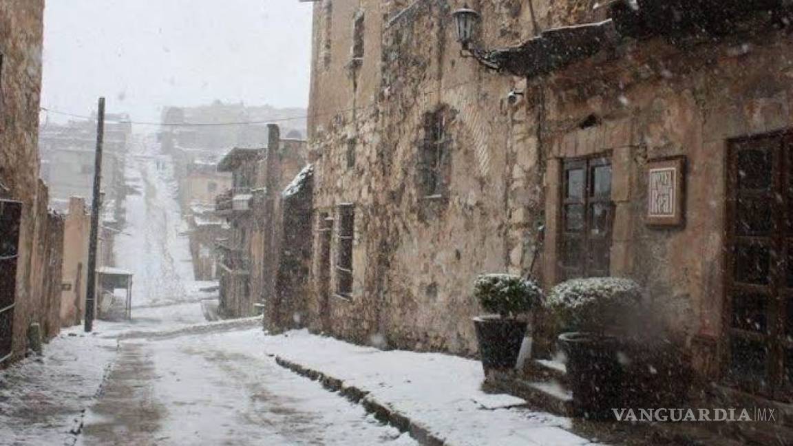
[{"label": "snowy stretch of road climbing the distant hill", "polygon": [[[159,145],[141,141],[128,154],[125,181],[136,193],[125,202],[126,226],[116,237],[118,267],[132,271],[132,321],[129,329],[162,330],[205,321],[201,301],[216,282],[194,279],[188,226],[179,209],[178,185],[170,156]],[[123,325],[98,324],[115,333]]]}]

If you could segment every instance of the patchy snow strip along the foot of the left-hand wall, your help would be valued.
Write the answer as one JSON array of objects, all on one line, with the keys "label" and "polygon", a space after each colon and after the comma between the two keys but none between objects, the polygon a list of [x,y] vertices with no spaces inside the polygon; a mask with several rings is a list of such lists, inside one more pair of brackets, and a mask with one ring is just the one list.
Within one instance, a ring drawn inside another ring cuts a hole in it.
[{"label": "patchy snow strip along the foot of the left-hand wall", "polygon": [[45,346],[44,357],[31,357],[0,372],[0,444],[74,444],[82,409],[94,399],[115,340],[63,330]]}]

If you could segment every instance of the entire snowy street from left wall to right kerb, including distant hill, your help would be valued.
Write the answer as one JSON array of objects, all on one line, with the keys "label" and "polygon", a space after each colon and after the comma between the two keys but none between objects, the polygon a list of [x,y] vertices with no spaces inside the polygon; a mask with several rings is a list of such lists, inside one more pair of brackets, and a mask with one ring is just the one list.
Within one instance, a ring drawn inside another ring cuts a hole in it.
[{"label": "entire snowy street from left wall to right kerb, including distant hill", "polygon": [[206,322],[216,291],[193,280],[170,158],[138,144],[125,177],[116,257],[134,274],[132,321],[64,330],[2,372],[0,444],[416,444],[279,367],[259,319]]}]

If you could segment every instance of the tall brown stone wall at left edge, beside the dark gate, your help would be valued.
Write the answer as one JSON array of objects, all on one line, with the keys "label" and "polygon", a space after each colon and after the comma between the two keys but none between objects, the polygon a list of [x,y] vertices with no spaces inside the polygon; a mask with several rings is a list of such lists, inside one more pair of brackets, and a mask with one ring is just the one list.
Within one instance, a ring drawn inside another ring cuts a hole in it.
[{"label": "tall brown stone wall at left edge, beside the dark gate", "polygon": [[41,90],[41,54],[44,20],[43,0],[0,2],[0,183],[7,198],[23,203],[17,297],[13,322],[13,359],[24,354],[29,324],[38,308],[34,271],[39,177],[36,135]]}]

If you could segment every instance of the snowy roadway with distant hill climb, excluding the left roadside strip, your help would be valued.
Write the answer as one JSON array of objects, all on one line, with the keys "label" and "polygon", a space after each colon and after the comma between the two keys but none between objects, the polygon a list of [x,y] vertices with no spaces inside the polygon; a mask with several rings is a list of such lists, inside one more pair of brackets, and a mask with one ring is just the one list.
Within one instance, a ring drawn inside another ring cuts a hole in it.
[{"label": "snowy roadway with distant hill climb, excluding the left roadside strip", "polygon": [[127,164],[117,259],[136,277],[134,318],[98,327],[117,358],[79,444],[414,444],[360,406],[275,364],[251,343],[256,318],[201,325],[170,157],[141,141]]}]

